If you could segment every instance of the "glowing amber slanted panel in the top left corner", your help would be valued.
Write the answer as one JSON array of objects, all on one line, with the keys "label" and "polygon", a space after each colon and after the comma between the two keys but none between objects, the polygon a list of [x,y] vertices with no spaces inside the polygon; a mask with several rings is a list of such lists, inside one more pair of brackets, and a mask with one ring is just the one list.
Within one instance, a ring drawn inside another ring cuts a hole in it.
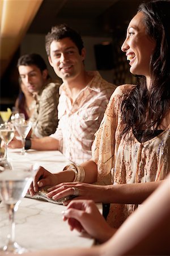
[{"label": "glowing amber slanted panel in the top left corner", "polygon": [[[0,1],[1,76],[18,48],[43,0]],[[12,20],[12,22],[11,22]]]}]

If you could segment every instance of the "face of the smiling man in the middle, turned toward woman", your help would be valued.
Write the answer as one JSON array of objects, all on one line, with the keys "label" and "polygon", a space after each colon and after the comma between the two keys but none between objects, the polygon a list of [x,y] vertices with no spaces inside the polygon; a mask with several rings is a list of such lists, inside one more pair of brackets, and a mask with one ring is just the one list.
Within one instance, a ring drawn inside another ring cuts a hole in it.
[{"label": "face of the smiling man in the middle, turned toward woman", "polygon": [[53,41],[50,45],[49,63],[63,81],[72,80],[80,74],[84,57],[85,50],[82,49],[80,55],[78,47],[70,38]]}]

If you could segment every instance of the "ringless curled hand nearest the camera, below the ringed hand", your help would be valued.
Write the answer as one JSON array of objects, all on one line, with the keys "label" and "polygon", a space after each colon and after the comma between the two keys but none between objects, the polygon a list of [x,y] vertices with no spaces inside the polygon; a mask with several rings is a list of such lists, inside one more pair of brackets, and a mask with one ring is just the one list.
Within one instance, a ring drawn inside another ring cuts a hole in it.
[{"label": "ringless curled hand nearest the camera, below the ringed hand", "polygon": [[99,242],[109,240],[116,232],[107,224],[92,200],[71,201],[63,212],[63,220],[68,220],[70,230],[86,232]]}]

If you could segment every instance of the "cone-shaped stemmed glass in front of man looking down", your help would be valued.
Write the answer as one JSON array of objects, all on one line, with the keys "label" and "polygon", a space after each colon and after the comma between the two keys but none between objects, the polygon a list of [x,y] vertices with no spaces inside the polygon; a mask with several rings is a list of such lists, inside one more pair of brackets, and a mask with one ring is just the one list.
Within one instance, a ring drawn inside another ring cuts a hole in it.
[{"label": "cone-shaped stemmed glass in front of man looking down", "polygon": [[25,119],[19,119],[15,121],[15,127],[18,131],[20,137],[22,137],[22,151],[21,154],[25,155],[25,138],[27,137],[29,131],[31,130],[31,122],[26,121]]}]

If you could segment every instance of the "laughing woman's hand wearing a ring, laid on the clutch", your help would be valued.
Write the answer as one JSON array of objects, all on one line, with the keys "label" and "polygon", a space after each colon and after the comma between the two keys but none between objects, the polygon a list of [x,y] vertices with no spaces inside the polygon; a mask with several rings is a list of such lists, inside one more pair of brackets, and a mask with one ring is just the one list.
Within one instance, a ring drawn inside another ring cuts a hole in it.
[{"label": "laughing woman's hand wearing a ring, laid on the clutch", "polygon": [[[107,185],[92,185],[87,183],[71,182],[61,183],[48,189],[48,197],[52,197],[54,200],[58,200],[61,197],[73,196],[74,191],[78,192],[77,199],[91,199],[96,203],[105,202],[104,192],[107,190]],[[69,204],[69,201],[65,201],[63,204]]]}]

